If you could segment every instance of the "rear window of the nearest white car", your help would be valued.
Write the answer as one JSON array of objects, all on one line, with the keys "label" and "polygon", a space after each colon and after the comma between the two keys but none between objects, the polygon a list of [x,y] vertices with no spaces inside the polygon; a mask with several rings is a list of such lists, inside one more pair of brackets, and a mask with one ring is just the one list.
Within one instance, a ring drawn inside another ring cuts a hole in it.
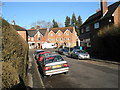
[{"label": "rear window of the nearest white car", "polygon": [[46,64],[60,61],[64,61],[64,59],[61,56],[51,56],[45,59]]}]

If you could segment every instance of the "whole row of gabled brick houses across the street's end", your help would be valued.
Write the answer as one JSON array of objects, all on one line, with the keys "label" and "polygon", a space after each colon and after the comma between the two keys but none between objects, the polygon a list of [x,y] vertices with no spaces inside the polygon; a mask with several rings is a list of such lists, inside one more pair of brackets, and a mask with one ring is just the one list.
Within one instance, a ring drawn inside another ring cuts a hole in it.
[{"label": "whole row of gabled brick houses across the street's end", "polygon": [[42,48],[45,42],[54,43],[57,47],[74,47],[77,45],[78,36],[74,27],[28,29],[29,48]]}]

